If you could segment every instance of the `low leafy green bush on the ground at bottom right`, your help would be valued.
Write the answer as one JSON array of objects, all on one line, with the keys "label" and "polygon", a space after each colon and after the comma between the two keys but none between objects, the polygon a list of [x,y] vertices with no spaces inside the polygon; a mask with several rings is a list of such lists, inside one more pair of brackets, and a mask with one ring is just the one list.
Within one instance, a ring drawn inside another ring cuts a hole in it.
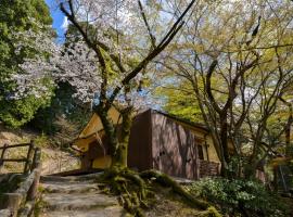
[{"label": "low leafy green bush on the ground at bottom right", "polygon": [[278,196],[256,181],[205,178],[194,182],[190,192],[231,216],[286,216],[288,208]]}]

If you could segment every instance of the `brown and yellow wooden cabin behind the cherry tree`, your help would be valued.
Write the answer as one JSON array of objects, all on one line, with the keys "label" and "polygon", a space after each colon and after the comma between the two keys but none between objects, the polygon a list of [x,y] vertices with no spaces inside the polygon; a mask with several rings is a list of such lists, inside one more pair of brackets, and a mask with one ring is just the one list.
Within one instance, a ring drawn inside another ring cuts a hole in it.
[{"label": "brown and yellow wooden cabin behind the cherry tree", "polygon": [[[114,124],[120,124],[122,118],[115,108],[109,112],[109,116]],[[102,169],[111,165],[103,127],[95,114],[73,146],[81,153],[82,169]],[[154,110],[148,110],[135,117],[128,153],[130,168],[154,168],[181,178],[216,176],[220,167],[219,157],[205,126]]]}]

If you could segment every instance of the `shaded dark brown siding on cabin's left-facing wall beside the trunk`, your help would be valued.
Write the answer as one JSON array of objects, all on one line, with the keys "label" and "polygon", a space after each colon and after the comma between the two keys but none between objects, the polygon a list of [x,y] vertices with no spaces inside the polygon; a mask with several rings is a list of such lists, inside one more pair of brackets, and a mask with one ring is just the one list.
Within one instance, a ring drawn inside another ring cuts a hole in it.
[{"label": "shaded dark brown siding on cabin's left-facing wall beside the trunk", "polygon": [[152,168],[151,166],[151,110],[139,114],[131,127],[128,149],[128,166],[138,170]]}]

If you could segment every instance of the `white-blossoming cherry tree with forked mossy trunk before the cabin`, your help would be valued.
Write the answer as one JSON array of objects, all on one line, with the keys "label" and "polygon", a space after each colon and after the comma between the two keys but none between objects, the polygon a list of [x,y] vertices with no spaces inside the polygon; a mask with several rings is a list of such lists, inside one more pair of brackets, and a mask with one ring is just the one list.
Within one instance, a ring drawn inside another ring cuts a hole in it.
[{"label": "white-blossoming cherry tree with forked mossy trunk before the cabin", "polygon": [[[143,99],[143,79],[149,79],[146,66],[155,58],[164,58],[164,49],[184,25],[195,1],[176,4],[178,15],[162,12],[168,1],[132,0],[66,0],[60,1],[78,37],[67,44],[58,44],[46,34],[17,33],[34,38],[30,46],[47,53],[44,58],[26,60],[21,67],[26,74],[16,75],[15,98],[27,94],[43,97],[43,80],[67,81],[76,89],[75,97],[90,102],[104,127],[112,166],[127,167],[127,146],[135,102]],[[181,5],[181,9],[178,8]],[[169,10],[173,8],[170,7]],[[154,14],[149,18],[150,14]],[[156,28],[157,24],[165,28]],[[155,30],[157,29],[157,30]],[[22,47],[23,44],[18,44]],[[55,82],[56,84],[56,82]],[[115,104],[123,116],[122,138],[117,138],[107,112]],[[138,103],[137,103],[138,104]]]}]

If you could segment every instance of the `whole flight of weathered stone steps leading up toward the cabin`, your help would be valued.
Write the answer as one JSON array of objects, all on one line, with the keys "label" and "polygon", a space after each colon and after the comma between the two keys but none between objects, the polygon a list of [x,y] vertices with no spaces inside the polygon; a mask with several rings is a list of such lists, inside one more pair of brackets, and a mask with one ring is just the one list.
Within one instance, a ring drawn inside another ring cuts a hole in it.
[{"label": "whole flight of weathered stone steps leading up toward the cabin", "polygon": [[101,192],[94,177],[41,177],[40,217],[125,217],[115,196]]}]

